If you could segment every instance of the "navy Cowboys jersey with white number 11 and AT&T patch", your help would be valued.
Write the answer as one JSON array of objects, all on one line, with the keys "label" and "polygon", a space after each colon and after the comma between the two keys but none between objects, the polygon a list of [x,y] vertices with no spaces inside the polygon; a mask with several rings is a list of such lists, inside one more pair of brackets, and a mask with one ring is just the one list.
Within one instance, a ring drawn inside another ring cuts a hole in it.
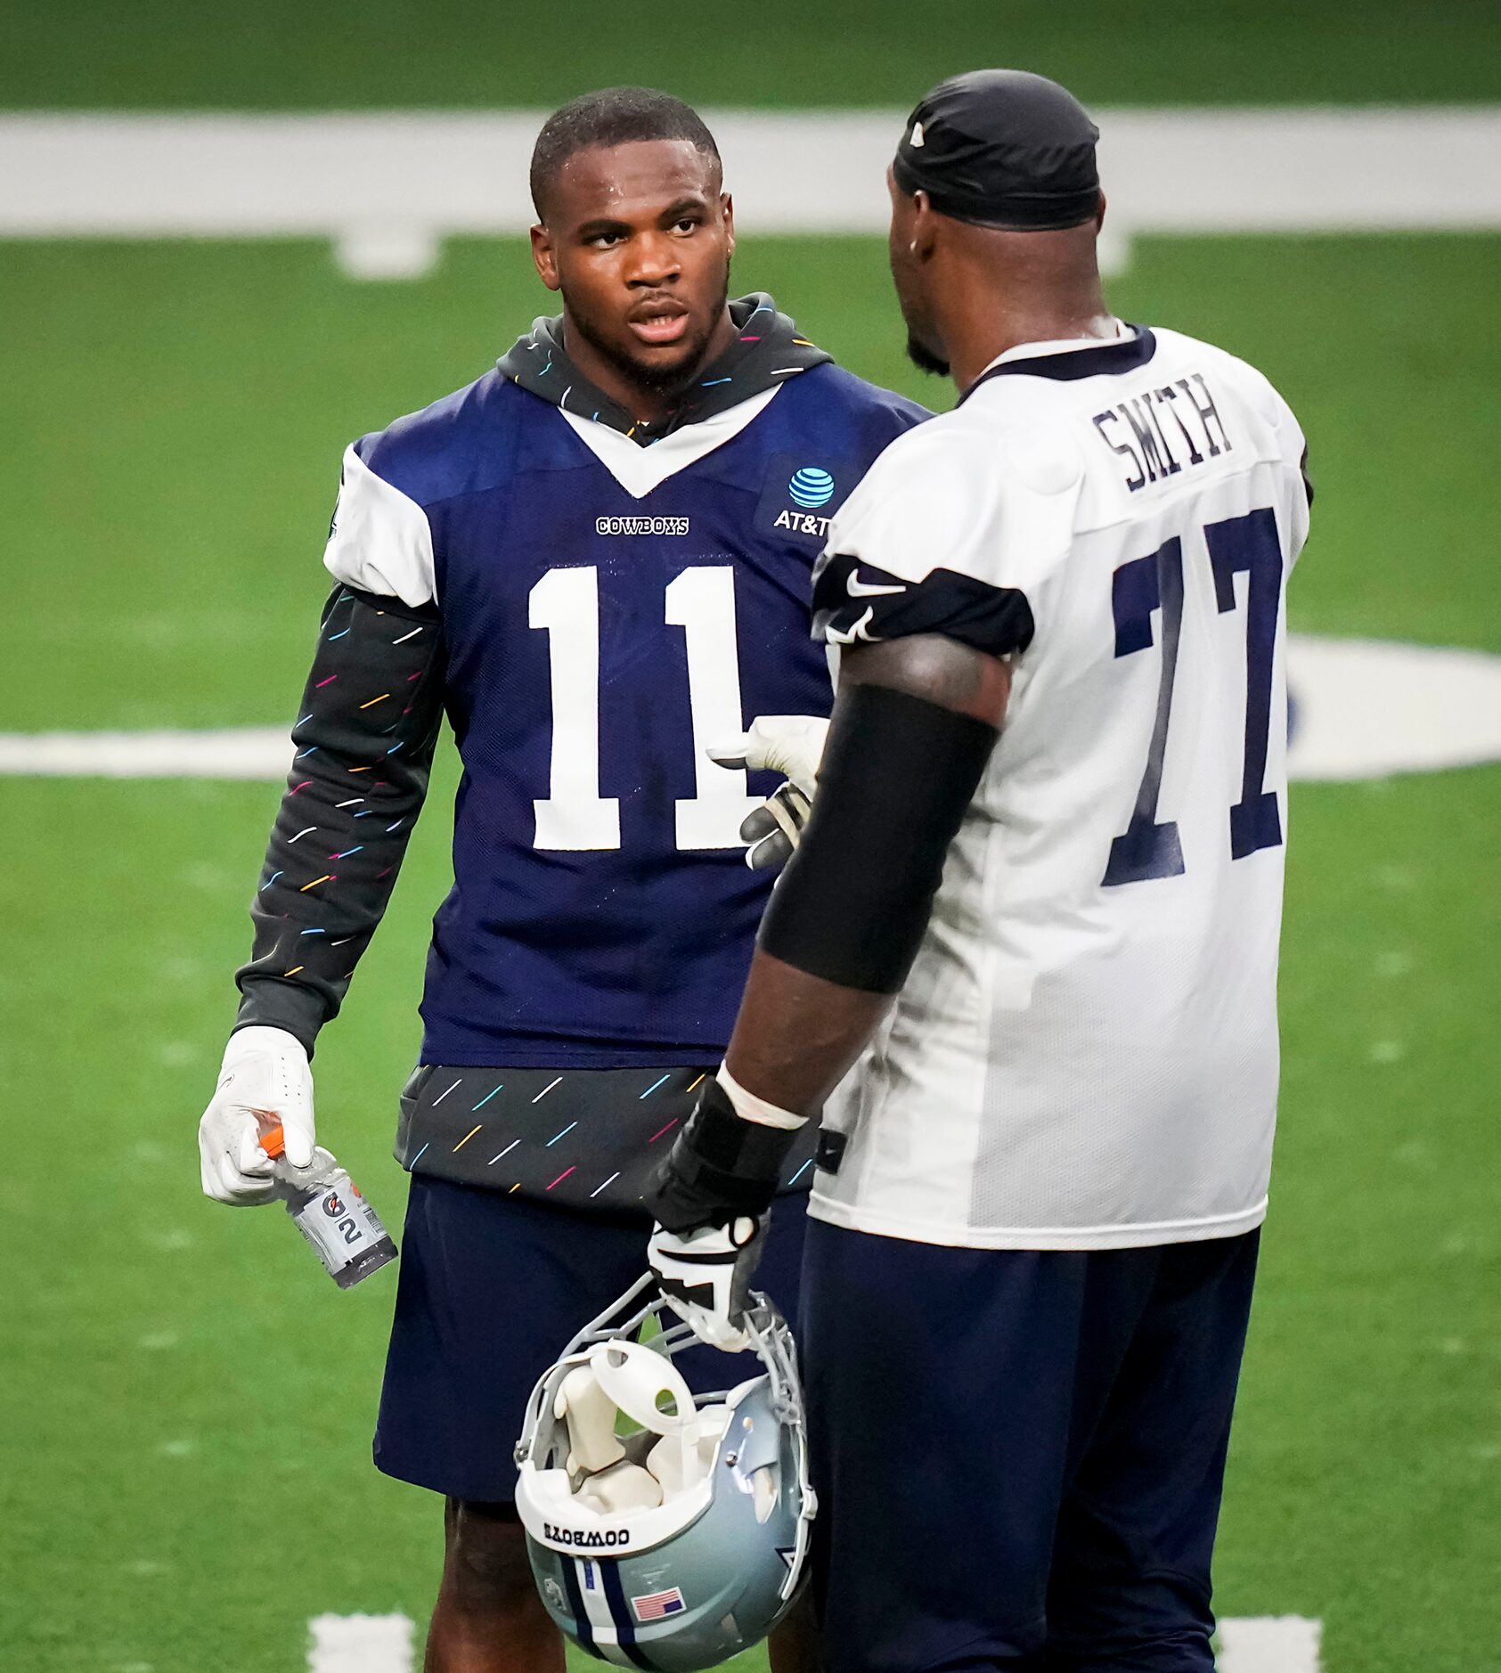
[{"label": "navy Cowboys jersey with white number 11 and AT&T patch", "polygon": [[435,597],[464,760],[422,1061],[628,1067],[725,1049],[775,775],[704,746],[827,714],[828,519],[922,408],[832,363],[649,448],[499,373],[358,442],[328,567]]}]

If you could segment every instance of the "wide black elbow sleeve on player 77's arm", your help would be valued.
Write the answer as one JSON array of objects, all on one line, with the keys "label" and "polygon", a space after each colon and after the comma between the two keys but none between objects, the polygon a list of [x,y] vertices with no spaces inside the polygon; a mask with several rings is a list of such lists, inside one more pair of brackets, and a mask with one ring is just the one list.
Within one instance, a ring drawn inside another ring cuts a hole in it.
[{"label": "wide black elbow sleeve on player 77's arm", "polygon": [[895,994],[997,736],[887,686],[842,691],[808,828],[761,918],[761,947],[825,982]]}]

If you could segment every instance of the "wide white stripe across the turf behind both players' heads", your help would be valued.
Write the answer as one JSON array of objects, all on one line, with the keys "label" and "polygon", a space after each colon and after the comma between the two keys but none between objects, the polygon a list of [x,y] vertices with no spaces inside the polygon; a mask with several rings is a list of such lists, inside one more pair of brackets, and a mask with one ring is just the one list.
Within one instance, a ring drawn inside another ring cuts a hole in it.
[{"label": "wide white stripe across the turf behind both players' heads", "polygon": [[[1138,233],[1501,226],[1501,105],[1094,112],[1114,261]],[[710,110],[751,233],[884,233],[900,110]],[[522,233],[540,110],[0,117],[0,238],[330,238],[415,278]]]}]

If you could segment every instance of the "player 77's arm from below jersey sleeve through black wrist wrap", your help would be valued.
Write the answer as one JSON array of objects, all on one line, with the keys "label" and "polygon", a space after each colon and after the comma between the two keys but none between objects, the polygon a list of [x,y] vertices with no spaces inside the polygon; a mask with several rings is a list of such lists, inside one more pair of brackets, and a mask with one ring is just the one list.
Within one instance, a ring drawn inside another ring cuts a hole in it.
[{"label": "player 77's arm from below jersey sleeve through black wrist wrap", "polygon": [[999,734],[1011,676],[994,657],[914,636],[850,661],[725,1071],[648,1191],[669,1233],[770,1205],[791,1133],[818,1113],[907,980]]}]

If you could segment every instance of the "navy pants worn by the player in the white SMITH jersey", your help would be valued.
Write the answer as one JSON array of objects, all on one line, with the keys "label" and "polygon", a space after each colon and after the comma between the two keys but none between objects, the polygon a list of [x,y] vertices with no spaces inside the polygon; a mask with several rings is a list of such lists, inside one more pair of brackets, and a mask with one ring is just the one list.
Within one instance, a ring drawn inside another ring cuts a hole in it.
[{"label": "navy pants worn by the player in the white SMITH jersey", "polygon": [[1212,1673],[1257,1243],[1034,1253],[812,1221],[827,1673]]}]

